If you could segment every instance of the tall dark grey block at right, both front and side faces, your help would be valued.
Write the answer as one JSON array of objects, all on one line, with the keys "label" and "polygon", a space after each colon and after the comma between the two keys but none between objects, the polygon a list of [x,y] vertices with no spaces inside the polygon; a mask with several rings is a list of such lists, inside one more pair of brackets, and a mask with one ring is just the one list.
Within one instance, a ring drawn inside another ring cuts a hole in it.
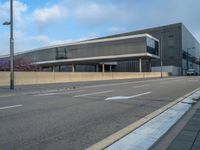
[{"label": "tall dark grey block at right, both front and side faces", "polygon": [[[188,69],[193,68],[200,73],[200,44],[182,23],[112,35],[108,37],[142,33],[148,33],[159,39],[164,71],[171,72],[173,75],[185,75]],[[160,61],[156,60],[152,66],[153,71],[159,71]]]}]

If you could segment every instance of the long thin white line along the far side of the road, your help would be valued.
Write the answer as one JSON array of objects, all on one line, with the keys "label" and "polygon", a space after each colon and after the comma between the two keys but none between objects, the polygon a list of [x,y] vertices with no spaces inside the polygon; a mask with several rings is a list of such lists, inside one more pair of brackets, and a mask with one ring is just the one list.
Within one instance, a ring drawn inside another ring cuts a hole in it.
[{"label": "long thin white line along the far side of the road", "polygon": [[108,87],[108,86],[115,86],[115,85],[126,85],[126,84],[133,84],[133,83],[143,83],[143,82],[153,82],[153,81],[175,81],[179,78],[167,78],[167,79],[151,79],[151,80],[142,80],[142,81],[133,81],[133,82],[121,82],[121,83],[111,83],[111,84],[99,84],[99,85],[91,85],[91,86],[85,86],[83,87],[84,89],[89,89],[89,88],[96,88],[96,87]]}]

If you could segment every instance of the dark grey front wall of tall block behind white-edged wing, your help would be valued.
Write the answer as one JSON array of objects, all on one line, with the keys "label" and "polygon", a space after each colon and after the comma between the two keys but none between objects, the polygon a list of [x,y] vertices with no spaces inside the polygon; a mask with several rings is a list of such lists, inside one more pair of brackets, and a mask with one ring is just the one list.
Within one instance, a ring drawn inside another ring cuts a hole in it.
[{"label": "dark grey front wall of tall block behind white-edged wing", "polygon": [[[177,23],[177,24],[165,25],[134,32],[122,33],[102,38],[113,38],[113,37],[137,35],[144,33],[150,34],[153,37],[159,39],[160,43],[162,43],[163,65],[164,66],[173,65],[181,67],[182,66],[181,26],[182,23]],[[154,61],[152,65],[159,66],[160,61],[159,60]]]}]

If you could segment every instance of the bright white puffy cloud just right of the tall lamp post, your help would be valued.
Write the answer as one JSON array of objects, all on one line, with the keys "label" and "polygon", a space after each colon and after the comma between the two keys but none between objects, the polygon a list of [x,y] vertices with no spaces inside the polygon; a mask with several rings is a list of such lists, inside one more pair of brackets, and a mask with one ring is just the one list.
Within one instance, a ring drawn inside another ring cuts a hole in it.
[{"label": "bright white puffy cloud just right of the tall lamp post", "polygon": [[46,26],[49,23],[64,19],[67,16],[67,11],[60,5],[53,5],[51,7],[36,9],[32,16],[39,26]]}]

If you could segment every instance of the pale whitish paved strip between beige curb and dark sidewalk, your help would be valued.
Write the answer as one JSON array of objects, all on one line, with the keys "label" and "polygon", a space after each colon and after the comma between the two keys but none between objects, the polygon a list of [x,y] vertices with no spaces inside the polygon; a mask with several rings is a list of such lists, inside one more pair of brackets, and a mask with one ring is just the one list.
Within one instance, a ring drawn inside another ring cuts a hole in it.
[{"label": "pale whitish paved strip between beige curb and dark sidewalk", "polygon": [[[198,93],[199,91],[193,93],[193,95]],[[177,104],[144,123],[139,128],[123,136],[114,144],[105,148],[105,150],[149,149],[192,107],[191,102],[193,101],[193,95],[179,101]],[[183,103],[184,101],[188,103]]]}]

